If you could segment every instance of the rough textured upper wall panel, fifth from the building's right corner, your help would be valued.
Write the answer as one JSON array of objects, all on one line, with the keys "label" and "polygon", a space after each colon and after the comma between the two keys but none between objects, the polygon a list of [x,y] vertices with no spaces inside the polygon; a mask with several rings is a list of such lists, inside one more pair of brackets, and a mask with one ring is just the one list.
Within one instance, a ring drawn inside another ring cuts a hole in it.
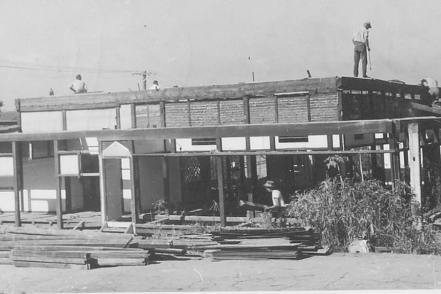
[{"label": "rough textured upper wall panel, fifth from the building's right corner", "polygon": [[191,126],[215,126],[217,122],[217,101],[192,101],[190,104]]}]

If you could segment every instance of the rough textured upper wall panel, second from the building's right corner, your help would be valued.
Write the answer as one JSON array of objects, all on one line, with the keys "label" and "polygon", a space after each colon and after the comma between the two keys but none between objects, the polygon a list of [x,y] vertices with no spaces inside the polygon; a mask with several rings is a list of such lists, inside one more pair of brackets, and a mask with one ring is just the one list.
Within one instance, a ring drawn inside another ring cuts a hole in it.
[{"label": "rough textured upper wall panel, second from the building's right corner", "polygon": [[308,121],[307,96],[278,99],[279,123]]}]

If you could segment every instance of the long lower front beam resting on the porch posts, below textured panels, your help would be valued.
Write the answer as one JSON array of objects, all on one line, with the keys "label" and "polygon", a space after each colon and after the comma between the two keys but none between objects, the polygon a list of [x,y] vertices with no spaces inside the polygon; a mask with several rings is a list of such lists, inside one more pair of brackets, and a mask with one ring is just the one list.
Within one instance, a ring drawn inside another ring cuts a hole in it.
[{"label": "long lower front beam resting on the porch posts, below textured panels", "polygon": [[334,121],[291,124],[249,124],[179,128],[139,128],[94,131],[62,131],[54,133],[0,134],[5,141],[49,141],[96,137],[99,141],[159,140],[180,138],[229,138],[293,136],[319,134],[389,133],[392,120]]}]

